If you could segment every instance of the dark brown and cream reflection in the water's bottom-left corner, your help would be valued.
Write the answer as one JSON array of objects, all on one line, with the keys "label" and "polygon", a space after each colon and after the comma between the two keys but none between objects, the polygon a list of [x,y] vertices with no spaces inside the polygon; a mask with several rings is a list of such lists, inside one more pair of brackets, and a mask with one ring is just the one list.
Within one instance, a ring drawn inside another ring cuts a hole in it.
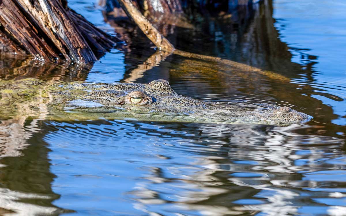
[{"label": "dark brown and cream reflection in the water's bottom-left corner", "polygon": [[[0,214],[58,215],[69,210],[52,205],[59,198],[51,188],[49,151],[40,138],[40,121],[24,118],[0,124]],[[71,212],[71,211],[70,211]]]}]

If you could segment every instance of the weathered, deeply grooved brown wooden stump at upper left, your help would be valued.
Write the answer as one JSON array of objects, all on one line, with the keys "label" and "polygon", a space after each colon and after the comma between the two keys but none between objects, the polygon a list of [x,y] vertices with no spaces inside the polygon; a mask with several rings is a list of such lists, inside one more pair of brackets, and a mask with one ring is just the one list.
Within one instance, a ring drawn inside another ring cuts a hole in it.
[{"label": "weathered, deeply grooved brown wooden stump at upper left", "polygon": [[67,7],[65,0],[0,0],[0,52],[85,64],[120,40]]}]

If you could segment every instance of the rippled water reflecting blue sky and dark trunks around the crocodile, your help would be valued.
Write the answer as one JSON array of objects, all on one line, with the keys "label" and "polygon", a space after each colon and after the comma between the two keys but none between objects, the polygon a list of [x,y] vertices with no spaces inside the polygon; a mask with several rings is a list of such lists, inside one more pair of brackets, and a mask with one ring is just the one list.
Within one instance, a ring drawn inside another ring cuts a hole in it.
[{"label": "rippled water reflecting blue sky and dark trunks around the crocodile", "polygon": [[[111,34],[119,28],[94,0],[69,4]],[[143,38],[89,73],[2,57],[2,79],[167,79],[182,95],[291,106],[314,119],[287,127],[2,121],[0,215],[346,215],[345,11],[342,0],[263,1],[245,17],[206,16],[168,36],[182,50],[269,75],[175,55],[148,69],[155,50]]]}]

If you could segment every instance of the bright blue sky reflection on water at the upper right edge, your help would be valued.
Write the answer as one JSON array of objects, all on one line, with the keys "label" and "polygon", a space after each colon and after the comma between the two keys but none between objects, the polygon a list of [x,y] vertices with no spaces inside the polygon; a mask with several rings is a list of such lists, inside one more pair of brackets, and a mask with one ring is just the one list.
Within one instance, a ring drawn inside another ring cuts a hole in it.
[{"label": "bright blue sky reflection on water at the upper right edge", "polygon": [[[346,62],[340,58],[346,47],[346,2],[290,2],[274,2],[274,26],[284,35],[280,39],[288,44],[289,51],[293,54],[291,61],[302,65],[303,70],[313,71],[311,75],[302,76],[293,82],[311,86],[311,97],[333,107],[334,114],[338,115],[332,122],[346,125]],[[293,11],[296,15],[294,17]],[[323,27],[316,30],[319,26]]]}]

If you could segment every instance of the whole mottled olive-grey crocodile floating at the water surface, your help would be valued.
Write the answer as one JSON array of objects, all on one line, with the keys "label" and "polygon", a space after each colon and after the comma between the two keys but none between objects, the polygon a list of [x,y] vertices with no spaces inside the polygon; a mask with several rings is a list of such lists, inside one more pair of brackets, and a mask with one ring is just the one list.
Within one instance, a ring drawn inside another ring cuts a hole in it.
[{"label": "whole mottled olive-grey crocodile floating at the water surface", "polygon": [[207,102],[177,94],[170,84],[83,83],[35,78],[0,81],[0,119],[116,119],[217,124],[303,123],[312,117],[290,107],[258,108]]}]

